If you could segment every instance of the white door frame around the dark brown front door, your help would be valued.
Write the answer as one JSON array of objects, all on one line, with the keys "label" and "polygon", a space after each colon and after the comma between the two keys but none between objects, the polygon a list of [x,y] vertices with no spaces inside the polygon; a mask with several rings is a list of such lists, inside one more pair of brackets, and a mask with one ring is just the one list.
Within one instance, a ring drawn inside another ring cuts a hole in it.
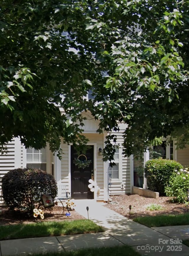
[{"label": "white door frame around the dark brown front door", "polygon": [[[71,193],[71,145],[68,145],[68,184],[69,191]],[[87,146],[94,146],[93,158],[94,158],[94,181],[97,182],[97,143],[87,143]],[[90,199],[91,200],[91,199]],[[97,200],[97,190],[94,190],[94,200]]]}]

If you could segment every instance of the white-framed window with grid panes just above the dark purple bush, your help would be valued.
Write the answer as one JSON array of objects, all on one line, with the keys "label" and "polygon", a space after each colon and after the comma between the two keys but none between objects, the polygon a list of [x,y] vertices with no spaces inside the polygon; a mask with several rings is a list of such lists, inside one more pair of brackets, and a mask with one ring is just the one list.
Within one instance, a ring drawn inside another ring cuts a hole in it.
[{"label": "white-framed window with grid panes just above the dark purple bush", "polygon": [[47,153],[46,148],[35,150],[30,147],[26,150],[27,168],[37,168],[46,171]]}]

